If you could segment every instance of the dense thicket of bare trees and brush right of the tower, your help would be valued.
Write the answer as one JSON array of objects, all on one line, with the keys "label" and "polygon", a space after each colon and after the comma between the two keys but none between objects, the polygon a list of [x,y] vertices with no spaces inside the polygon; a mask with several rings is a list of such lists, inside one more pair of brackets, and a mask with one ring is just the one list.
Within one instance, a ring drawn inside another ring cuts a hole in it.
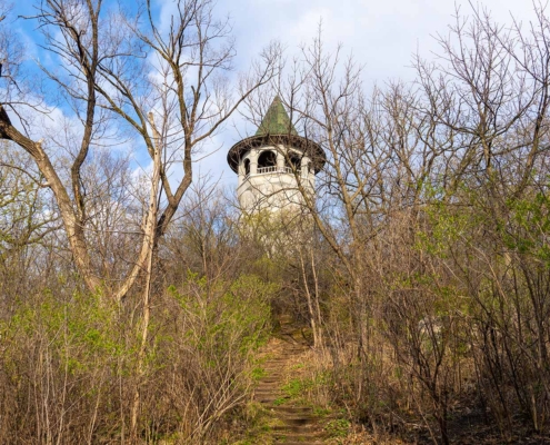
[{"label": "dense thicket of bare trees and brush right of the tower", "polygon": [[[439,38],[441,55],[414,58],[414,82],[370,96],[353,60],[341,61],[340,49],[328,53],[318,37],[274,87],[297,128],[328,155],[320,199],[296,178],[344,276],[360,358],[351,397],[364,404],[387,365],[407,369],[422,392],[403,393],[434,442],[451,441],[448,412],[472,362],[481,394],[491,382],[499,395],[484,397],[502,431],[513,429],[504,382],[533,429],[548,412],[541,220],[550,59],[547,12],[536,12],[526,30],[498,26],[481,9],[470,18],[457,11]],[[471,298],[467,310],[463,298]],[[384,345],[396,354],[391,364]]]}]

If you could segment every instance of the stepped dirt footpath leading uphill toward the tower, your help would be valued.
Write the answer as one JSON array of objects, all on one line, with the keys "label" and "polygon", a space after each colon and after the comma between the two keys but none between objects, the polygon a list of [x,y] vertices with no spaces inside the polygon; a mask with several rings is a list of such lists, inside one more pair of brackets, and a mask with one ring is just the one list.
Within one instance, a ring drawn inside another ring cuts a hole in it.
[{"label": "stepped dirt footpath leading uphill toward the tower", "polygon": [[261,443],[287,445],[328,443],[322,424],[313,408],[296,400],[283,389],[284,385],[296,378],[297,358],[308,350],[306,340],[289,320],[282,320],[279,335],[270,340],[267,350],[263,364],[266,374],[260,378],[254,392],[254,400],[262,405],[270,425]]}]

